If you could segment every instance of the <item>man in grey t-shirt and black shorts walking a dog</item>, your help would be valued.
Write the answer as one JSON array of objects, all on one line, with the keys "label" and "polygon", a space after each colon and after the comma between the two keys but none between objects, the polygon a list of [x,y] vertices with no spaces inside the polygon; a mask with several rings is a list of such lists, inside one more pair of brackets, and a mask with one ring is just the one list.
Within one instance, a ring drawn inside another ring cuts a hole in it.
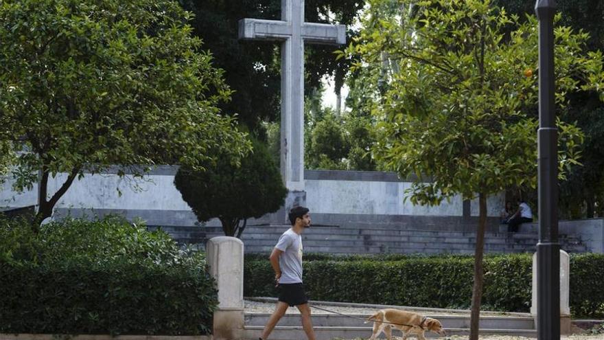
[{"label": "man in grey t-shirt and black shorts walking a dog", "polygon": [[268,339],[277,322],[285,315],[289,307],[296,306],[302,317],[302,327],[308,340],[315,340],[310,307],[302,284],[302,237],[305,228],[310,227],[310,215],[306,207],[293,207],[289,218],[292,227],[284,232],[270,254],[270,265],[275,271],[275,282],[279,287],[279,302],[275,312],[270,315],[262,337]]}]

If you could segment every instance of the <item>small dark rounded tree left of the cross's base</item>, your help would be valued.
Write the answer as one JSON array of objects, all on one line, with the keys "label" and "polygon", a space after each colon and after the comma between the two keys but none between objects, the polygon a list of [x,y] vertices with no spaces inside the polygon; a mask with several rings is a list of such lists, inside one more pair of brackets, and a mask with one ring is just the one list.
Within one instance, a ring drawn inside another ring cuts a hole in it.
[{"label": "small dark rounded tree left of the cross's base", "polygon": [[248,218],[276,212],[285,201],[288,190],[279,168],[259,141],[240,166],[229,157],[218,157],[204,168],[180,168],[174,185],[198,220],[218,218],[226,236],[240,238]]}]

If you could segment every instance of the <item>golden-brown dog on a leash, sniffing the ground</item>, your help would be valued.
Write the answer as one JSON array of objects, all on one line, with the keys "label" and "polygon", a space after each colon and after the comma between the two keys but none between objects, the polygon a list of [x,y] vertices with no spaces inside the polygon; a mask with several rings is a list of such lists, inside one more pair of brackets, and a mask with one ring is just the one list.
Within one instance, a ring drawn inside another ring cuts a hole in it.
[{"label": "golden-brown dog on a leash, sniffing the ground", "polygon": [[386,334],[388,340],[392,339],[392,328],[398,328],[403,332],[403,340],[407,339],[410,334],[417,334],[418,339],[425,340],[423,333],[426,330],[437,333],[439,335],[445,335],[443,325],[437,319],[431,317],[424,317],[413,312],[406,312],[398,309],[381,309],[377,313],[371,315],[367,319],[367,322],[373,321],[373,334],[369,340],[375,340],[378,335],[383,331]]}]

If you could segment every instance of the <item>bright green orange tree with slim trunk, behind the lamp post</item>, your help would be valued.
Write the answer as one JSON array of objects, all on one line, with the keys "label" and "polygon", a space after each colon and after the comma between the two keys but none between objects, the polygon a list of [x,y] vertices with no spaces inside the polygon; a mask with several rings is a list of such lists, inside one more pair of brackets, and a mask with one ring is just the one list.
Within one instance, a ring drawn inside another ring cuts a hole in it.
[{"label": "bright green orange tree with slim trunk, behind the lamp post", "polygon": [[[438,204],[478,196],[470,339],[478,339],[487,196],[536,185],[537,21],[489,0],[371,0],[355,69],[369,69],[377,117],[375,157],[403,178],[419,179],[410,200]],[[395,10],[393,10],[393,8]],[[558,17],[559,19],[559,17]],[[555,30],[556,100],[603,89],[601,52],[583,52],[588,34]],[[343,55],[343,54],[342,54]],[[378,82],[381,82],[378,83]],[[603,93],[600,93],[603,95]],[[582,134],[559,121],[559,166],[577,164]]]}]

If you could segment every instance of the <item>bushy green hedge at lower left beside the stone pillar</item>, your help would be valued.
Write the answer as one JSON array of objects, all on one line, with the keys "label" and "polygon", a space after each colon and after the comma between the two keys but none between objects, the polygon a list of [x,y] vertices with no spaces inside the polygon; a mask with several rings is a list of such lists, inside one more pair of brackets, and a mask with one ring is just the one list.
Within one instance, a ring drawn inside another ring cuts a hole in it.
[{"label": "bushy green hedge at lower left beside the stone pillar", "polygon": [[202,253],[121,218],[33,234],[0,220],[0,332],[200,335],[218,305]]}]

